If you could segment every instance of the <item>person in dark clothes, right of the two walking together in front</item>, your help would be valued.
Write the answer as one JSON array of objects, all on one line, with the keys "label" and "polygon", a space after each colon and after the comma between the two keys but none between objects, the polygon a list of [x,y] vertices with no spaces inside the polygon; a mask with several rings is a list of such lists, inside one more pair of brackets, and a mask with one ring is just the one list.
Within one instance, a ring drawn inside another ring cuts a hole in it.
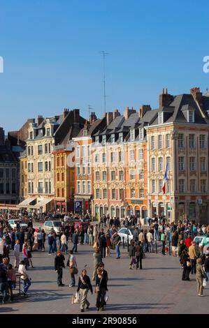
[{"label": "person in dark clothes, right of the two walking together in front", "polygon": [[105,295],[108,290],[108,281],[103,274],[103,269],[99,267],[96,271],[96,310],[103,311],[105,305]]}]

